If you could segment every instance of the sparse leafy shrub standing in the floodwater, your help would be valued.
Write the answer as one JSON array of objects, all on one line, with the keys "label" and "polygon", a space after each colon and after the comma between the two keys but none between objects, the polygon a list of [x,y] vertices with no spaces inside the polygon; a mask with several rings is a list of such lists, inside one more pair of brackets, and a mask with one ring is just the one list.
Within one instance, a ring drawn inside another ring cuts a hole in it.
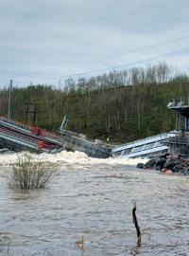
[{"label": "sparse leafy shrub standing in the floodwater", "polygon": [[54,168],[50,167],[48,163],[42,162],[39,157],[35,159],[28,153],[18,155],[9,174],[9,187],[19,190],[42,189],[53,173]]}]

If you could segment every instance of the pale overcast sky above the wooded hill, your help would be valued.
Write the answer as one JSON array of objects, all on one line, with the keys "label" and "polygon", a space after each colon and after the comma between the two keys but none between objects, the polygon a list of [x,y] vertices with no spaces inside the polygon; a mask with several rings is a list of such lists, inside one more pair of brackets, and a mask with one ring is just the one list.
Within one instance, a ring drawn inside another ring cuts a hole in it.
[{"label": "pale overcast sky above the wooded hill", "polygon": [[160,61],[188,70],[189,1],[0,0],[0,35],[1,86]]}]

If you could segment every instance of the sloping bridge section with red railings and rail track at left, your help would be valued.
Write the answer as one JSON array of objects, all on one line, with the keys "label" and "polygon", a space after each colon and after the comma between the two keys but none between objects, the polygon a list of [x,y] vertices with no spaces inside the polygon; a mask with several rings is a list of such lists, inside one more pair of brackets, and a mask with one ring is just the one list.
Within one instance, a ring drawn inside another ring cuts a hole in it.
[{"label": "sloping bridge section with red railings and rail track at left", "polygon": [[0,147],[12,151],[54,153],[62,150],[60,136],[48,133],[38,127],[0,117]]}]

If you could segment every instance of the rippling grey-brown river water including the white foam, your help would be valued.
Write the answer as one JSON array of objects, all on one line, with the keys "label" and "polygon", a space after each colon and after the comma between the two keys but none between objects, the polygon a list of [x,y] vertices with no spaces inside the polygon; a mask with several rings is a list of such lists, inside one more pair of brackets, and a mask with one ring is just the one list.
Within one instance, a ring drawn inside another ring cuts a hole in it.
[{"label": "rippling grey-brown river water including the white foam", "polygon": [[18,192],[6,183],[16,154],[0,155],[0,255],[189,255],[186,176],[136,170],[141,160],[65,152],[41,157],[59,166],[47,189]]}]

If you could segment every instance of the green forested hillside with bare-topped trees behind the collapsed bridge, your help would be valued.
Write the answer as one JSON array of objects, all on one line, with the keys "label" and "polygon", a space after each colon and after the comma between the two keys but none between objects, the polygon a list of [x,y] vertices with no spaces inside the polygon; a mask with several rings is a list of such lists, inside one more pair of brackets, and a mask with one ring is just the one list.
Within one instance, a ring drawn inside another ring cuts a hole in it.
[{"label": "green forested hillside with bare-topped trees behind the collapsed bridge", "polygon": [[[165,64],[75,82],[59,89],[51,85],[13,87],[12,118],[26,121],[26,103],[35,102],[38,125],[58,131],[64,115],[68,129],[91,138],[127,142],[175,128],[175,113],[166,105],[189,96],[189,78],[173,73]],[[9,88],[0,92],[0,115],[8,114]],[[30,109],[30,112],[32,110]],[[30,113],[27,123],[32,123]]]}]

